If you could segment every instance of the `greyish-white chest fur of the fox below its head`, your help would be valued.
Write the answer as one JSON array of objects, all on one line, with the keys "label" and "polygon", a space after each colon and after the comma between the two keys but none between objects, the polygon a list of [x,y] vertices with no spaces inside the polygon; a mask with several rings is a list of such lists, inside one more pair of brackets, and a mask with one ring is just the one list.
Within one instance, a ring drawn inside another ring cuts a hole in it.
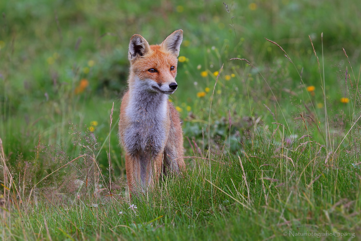
[{"label": "greyish-white chest fur of the fox below its head", "polygon": [[133,155],[155,155],[164,149],[168,139],[168,96],[157,92],[134,92],[124,96],[129,100],[125,107],[124,147]]}]

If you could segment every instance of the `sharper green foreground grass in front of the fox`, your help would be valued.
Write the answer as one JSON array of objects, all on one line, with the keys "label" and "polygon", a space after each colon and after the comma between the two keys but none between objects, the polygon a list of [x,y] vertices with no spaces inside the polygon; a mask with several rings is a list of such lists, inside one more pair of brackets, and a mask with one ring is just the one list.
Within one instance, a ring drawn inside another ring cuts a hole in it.
[{"label": "sharper green foreground grass in front of the fox", "polygon": [[321,145],[305,138],[282,147],[272,132],[260,131],[237,154],[193,158],[181,177],[131,202],[125,194],[97,189],[99,176],[94,185],[90,178],[88,187],[84,180],[73,192],[51,190],[49,196],[37,189],[22,198],[8,174],[2,235],[56,240],[278,240],[283,232],[327,230],[360,235],[360,163],[353,155],[334,155],[326,165]]}]

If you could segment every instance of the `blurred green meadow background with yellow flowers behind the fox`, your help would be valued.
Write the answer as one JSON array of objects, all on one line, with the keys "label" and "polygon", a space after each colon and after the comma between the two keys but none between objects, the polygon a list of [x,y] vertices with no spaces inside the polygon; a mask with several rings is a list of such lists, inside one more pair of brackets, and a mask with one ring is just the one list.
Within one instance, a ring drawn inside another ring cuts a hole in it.
[{"label": "blurred green meadow background with yellow flowers behind the fox", "polygon": [[[31,162],[42,143],[42,150],[77,156],[81,148],[73,144],[75,134],[93,138],[98,152],[109,134],[114,102],[115,128],[98,161],[106,170],[109,154],[115,175],[123,175],[117,118],[129,39],[140,34],[157,44],[178,29],[183,30],[179,87],[170,100],[183,120],[186,155],[197,152],[196,146],[202,152],[225,141],[236,151],[257,119],[267,128],[281,119],[290,125],[293,139],[302,135],[300,113],[325,123],[323,76],[332,133],[342,136],[358,108],[351,92],[360,71],[360,11],[361,2],[354,0],[1,1],[0,138],[5,153],[11,163]],[[265,38],[280,45],[290,60]],[[231,58],[245,58],[256,69]],[[223,64],[208,143],[210,97]]]}]

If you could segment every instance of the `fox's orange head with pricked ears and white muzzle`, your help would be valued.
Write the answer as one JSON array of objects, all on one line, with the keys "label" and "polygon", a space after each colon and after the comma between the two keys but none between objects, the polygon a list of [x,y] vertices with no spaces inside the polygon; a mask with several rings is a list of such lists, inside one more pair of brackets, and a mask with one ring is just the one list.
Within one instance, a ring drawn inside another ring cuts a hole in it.
[{"label": "fox's orange head with pricked ears and white muzzle", "polygon": [[181,29],[174,31],[159,45],[149,45],[142,36],[133,35],[128,53],[129,88],[135,86],[143,91],[172,94],[178,86],[175,76],[182,39]]}]

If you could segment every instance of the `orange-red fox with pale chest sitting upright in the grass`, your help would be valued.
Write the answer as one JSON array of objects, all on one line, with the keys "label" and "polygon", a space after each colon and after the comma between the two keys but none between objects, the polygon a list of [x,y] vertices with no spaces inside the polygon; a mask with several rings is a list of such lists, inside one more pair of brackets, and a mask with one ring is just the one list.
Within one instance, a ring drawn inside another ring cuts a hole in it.
[{"label": "orange-red fox with pale chest sitting upright in the grass", "polygon": [[185,168],[181,122],[168,101],[178,86],[175,76],[182,39],[182,30],[159,45],[149,45],[138,34],[130,39],[128,90],[119,120],[130,196],[153,187],[160,176]]}]

